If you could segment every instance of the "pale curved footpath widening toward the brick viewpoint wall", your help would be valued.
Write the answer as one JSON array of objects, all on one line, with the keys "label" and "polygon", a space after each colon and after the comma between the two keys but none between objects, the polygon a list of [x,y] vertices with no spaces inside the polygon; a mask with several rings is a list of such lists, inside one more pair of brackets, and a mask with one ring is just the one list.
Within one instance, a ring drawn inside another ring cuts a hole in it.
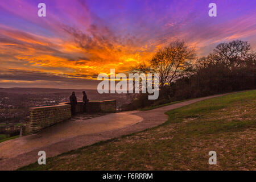
[{"label": "pale curved footpath widening toward the brick viewpoint wall", "polygon": [[[233,94],[233,93],[230,93]],[[196,98],[148,111],[127,111],[103,115],[91,119],[70,119],[48,127],[39,133],[0,143],[0,170],[15,170],[38,160],[38,152],[46,151],[46,157],[89,146],[96,142],[132,134],[167,121],[168,110],[203,101]]]}]

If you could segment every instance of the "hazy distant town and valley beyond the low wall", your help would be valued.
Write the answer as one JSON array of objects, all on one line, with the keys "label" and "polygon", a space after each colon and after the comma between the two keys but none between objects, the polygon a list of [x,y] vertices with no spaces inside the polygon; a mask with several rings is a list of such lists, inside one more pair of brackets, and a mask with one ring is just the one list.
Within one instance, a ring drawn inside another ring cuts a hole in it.
[{"label": "hazy distant town and valley beyond the low wall", "polygon": [[[117,100],[118,110],[129,104],[126,94],[99,94],[97,90],[86,90],[89,100]],[[68,102],[72,90],[40,88],[0,88],[0,135],[19,134],[20,127],[30,118],[30,107],[58,105]],[[82,90],[75,90],[77,100],[82,100]]]}]

